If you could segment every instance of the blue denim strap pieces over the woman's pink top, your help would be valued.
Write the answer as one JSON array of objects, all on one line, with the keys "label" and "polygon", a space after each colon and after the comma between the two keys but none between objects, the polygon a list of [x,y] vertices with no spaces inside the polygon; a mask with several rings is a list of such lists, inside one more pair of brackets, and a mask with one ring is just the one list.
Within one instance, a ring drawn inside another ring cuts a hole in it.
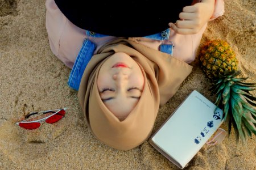
[{"label": "blue denim strap pieces over the woman's pink top", "polygon": [[[100,33],[95,33],[92,31],[86,31],[87,36],[91,37],[104,37],[107,35],[102,35]],[[156,33],[154,35],[145,36],[147,39],[153,40],[168,40],[170,35],[170,29],[166,29],[160,33]],[[164,53],[168,53],[172,55],[173,44],[162,44],[160,45],[160,51]],[[84,74],[85,67],[87,66],[90,58],[92,58],[94,50],[96,49],[96,44],[92,41],[85,39],[82,43],[82,47],[80,49],[79,54],[77,55],[75,64],[71,70],[71,74],[69,75],[68,85],[69,87],[79,90],[80,82],[82,79],[82,74]]]}]

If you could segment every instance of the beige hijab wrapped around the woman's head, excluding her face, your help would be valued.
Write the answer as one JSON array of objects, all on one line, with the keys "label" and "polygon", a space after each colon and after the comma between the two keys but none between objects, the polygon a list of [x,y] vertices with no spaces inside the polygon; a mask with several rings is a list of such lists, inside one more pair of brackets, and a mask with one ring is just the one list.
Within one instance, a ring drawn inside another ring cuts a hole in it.
[{"label": "beige hijab wrapped around the woman's head, excluding her face", "polygon": [[[102,63],[117,52],[128,54],[138,63],[145,82],[141,99],[123,121],[106,108],[97,88]],[[191,71],[187,63],[132,40],[109,42],[92,57],[79,87],[79,102],[89,128],[98,140],[118,150],[141,145],[151,134],[159,105],[175,94]]]}]

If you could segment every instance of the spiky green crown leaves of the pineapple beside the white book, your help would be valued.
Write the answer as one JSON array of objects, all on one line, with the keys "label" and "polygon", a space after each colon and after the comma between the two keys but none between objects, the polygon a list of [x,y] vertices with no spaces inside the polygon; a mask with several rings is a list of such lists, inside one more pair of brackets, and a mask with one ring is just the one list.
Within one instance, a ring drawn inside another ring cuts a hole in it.
[{"label": "spiky green crown leaves of the pineapple beside the white book", "polygon": [[236,71],[213,80],[210,91],[217,96],[216,105],[224,111],[223,118],[228,121],[229,134],[233,126],[237,142],[241,138],[245,143],[247,135],[256,135],[256,97],[250,94],[256,89],[256,83],[242,82],[247,78],[236,78],[240,73]]}]

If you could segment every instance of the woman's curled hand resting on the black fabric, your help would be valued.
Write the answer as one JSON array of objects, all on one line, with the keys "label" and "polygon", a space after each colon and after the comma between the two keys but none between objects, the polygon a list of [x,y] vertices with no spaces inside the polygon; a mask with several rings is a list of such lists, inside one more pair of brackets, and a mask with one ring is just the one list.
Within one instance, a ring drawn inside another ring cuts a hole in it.
[{"label": "woman's curled hand resting on the black fabric", "polygon": [[214,0],[202,0],[192,6],[186,6],[180,12],[176,23],[169,26],[179,34],[195,34],[208,22],[214,11]]}]

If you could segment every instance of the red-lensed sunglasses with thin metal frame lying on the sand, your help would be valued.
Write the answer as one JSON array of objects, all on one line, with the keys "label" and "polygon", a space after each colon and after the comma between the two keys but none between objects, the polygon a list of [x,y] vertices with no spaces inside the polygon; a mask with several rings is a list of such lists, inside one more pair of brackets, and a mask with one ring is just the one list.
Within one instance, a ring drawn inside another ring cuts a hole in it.
[{"label": "red-lensed sunglasses with thin metal frame lying on the sand", "polygon": [[[55,109],[51,111],[42,112],[31,112],[25,116],[25,120],[16,122],[16,125],[24,129],[37,129],[43,122],[53,124],[65,116],[67,108]],[[38,114],[37,116],[31,117],[32,115]],[[29,118],[31,117],[31,118]]]}]

